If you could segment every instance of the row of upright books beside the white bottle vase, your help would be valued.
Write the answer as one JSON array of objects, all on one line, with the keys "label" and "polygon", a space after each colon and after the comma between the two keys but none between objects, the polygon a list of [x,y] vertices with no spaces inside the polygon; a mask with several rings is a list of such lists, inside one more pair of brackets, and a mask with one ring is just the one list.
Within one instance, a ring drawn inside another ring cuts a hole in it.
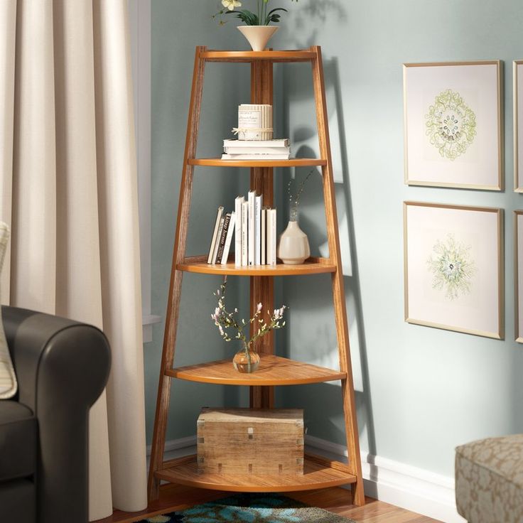
[{"label": "row of upright books beside the white bottle vase", "polygon": [[276,265],[276,209],[263,206],[263,195],[238,196],[225,215],[218,207],[207,264],[227,264],[233,237],[234,265]]}]

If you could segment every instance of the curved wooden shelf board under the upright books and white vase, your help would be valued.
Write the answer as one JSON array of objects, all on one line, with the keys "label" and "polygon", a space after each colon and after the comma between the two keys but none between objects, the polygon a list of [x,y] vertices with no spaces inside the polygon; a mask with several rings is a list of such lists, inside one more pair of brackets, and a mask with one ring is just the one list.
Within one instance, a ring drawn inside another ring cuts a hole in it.
[{"label": "curved wooden shelf board under the upright books and white vase", "polygon": [[296,276],[303,274],[325,274],[335,272],[335,264],[328,258],[309,258],[304,264],[289,265],[251,265],[237,267],[230,258],[227,264],[207,264],[207,256],[185,258],[183,263],[177,264],[176,269],[198,274],[227,274],[230,276]]}]

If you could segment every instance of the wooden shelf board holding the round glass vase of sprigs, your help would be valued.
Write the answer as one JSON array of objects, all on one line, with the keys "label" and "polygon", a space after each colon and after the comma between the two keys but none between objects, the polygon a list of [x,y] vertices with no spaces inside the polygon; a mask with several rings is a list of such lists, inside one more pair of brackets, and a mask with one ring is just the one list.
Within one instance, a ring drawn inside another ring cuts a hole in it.
[{"label": "wooden shelf board holding the round glass vase of sprigs", "polygon": [[166,376],[190,382],[220,385],[303,385],[345,379],[346,372],[325,369],[285,357],[262,355],[259,367],[252,374],[242,374],[232,367],[232,359],[200,363],[166,370]]}]

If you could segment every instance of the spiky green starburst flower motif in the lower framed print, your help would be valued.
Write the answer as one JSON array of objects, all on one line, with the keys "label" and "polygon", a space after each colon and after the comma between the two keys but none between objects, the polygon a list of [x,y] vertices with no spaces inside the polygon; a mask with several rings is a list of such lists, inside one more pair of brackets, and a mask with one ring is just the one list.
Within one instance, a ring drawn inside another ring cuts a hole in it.
[{"label": "spiky green starburst flower motif in the lower framed print", "polygon": [[432,288],[443,289],[448,300],[470,293],[475,263],[470,246],[456,242],[453,234],[448,234],[444,242],[438,239],[427,264],[433,274]]}]

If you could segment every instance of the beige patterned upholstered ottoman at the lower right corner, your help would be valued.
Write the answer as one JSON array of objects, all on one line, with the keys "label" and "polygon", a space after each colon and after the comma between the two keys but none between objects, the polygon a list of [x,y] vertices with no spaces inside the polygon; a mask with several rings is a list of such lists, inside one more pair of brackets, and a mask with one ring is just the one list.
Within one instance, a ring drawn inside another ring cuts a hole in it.
[{"label": "beige patterned upholstered ottoman at the lower right corner", "polygon": [[523,434],[456,448],[455,501],[469,523],[523,523]]}]

